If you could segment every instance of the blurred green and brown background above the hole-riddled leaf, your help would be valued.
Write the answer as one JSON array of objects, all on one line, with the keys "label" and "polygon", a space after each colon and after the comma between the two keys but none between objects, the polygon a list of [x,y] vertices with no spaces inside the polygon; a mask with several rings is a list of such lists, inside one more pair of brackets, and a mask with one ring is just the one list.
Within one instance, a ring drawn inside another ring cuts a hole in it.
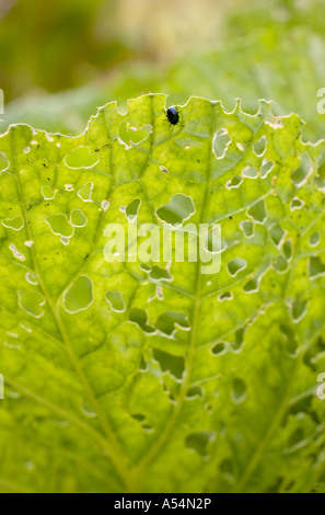
[{"label": "blurred green and brown background above the hole-riddled leaf", "polygon": [[0,0],[0,88],[11,123],[84,130],[96,107],[142,93],[274,100],[324,137],[324,0]]}]

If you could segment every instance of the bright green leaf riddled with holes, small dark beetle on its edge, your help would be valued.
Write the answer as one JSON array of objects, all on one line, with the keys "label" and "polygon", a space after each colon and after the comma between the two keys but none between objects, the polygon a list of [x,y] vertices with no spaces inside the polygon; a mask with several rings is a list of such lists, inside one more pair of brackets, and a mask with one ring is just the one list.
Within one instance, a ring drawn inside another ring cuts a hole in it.
[{"label": "bright green leaf riddled with holes, small dark beetle on its edge", "polygon": [[[3,492],[324,483],[324,142],[266,102],[164,108],[0,137]],[[106,262],[105,227],[135,220],[220,224],[220,272]]]}]

